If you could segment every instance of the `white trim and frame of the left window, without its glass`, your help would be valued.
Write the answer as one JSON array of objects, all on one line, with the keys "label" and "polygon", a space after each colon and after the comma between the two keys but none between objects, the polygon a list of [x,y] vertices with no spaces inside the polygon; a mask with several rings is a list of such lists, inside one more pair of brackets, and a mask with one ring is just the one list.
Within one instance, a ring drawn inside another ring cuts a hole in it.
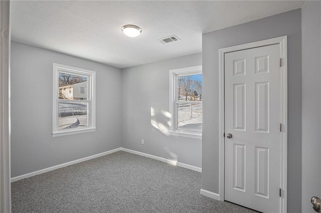
[{"label": "white trim and frame of the left window, without its glass", "polygon": [[[88,127],[74,128],[74,129],[58,129],[58,87],[59,79],[58,72],[67,71],[73,72],[75,74],[88,75]],[[53,63],[53,126],[52,126],[52,135],[68,135],[76,134],[82,132],[89,132],[96,130],[96,72],[77,68],[73,66],[67,66],[63,64]]]}]

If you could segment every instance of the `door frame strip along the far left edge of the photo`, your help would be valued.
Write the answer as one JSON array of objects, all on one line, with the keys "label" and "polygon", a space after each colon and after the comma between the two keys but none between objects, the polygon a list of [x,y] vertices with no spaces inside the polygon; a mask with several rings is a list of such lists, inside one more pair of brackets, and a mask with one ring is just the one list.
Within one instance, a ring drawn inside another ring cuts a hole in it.
[{"label": "door frame strip along the far left edge of the photo", "polygon": [[0,212],[11,212],[10,4],[0,1]]}]

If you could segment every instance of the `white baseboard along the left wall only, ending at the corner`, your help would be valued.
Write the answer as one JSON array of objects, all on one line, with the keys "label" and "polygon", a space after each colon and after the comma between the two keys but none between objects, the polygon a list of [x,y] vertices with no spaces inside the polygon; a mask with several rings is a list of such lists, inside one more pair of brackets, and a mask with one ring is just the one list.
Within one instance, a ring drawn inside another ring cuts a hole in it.
[{"label": "white baseboard along the left wall only, ending at the corner", "polygon": [[44,168],[44,169],[41,169],[41,170],[38,170],[38,171],[33,171],[33,172],[30,172],[30,173],[27,173],[27,174],[23,174],[23,175],[20,175],[20,176],[12,177],[11,178],[11,182],[14,182],[14,181],[17,181],[17,180],[20,180],[20,179],[24,179],[24,178],[27,178],[27,177],[35,176],[37,174],[41,174],[41,173],[44,173],[44,172],[47,172],[47,171],[52,171],[52,170],[55,170],[57,168],[62,168],[62,167],[68,166],[68,165],[72,165],[72,164],[78,163],[78,162],[83,162],[83,161],[90,160],[90,159],[93,159],[93,158],[96,158],[96,157],[100,157],[100,156],[104,156],[104,155],[107,155],[107,154],[111,154],[113,152],[120,151],[120,150],[121,150],[121,147],[115,148],[115,149],[112,149],[112,150],[109,150],[109,151],[101,152],[101,153],[98,153],[98,154],[94,154],[94,155],[91,155],[91,156],[88,156],[88,157],[80,158],[80,159],[77,159],[77,160],[73,160],[73,161],[70,161],[70,162],[65,162],[65,163],[62,163],[62,164],[59,164],[59,165],[54,165],[54,166],[51,166],[49,168]]}]

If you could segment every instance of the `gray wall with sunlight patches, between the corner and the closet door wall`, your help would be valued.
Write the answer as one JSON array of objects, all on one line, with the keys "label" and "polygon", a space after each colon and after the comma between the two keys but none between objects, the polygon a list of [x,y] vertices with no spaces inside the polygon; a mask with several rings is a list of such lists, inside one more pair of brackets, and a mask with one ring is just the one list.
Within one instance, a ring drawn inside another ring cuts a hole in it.
[{"label": "gray wall with sunlight patches, between the corner and the closet door wall", "polygon": [[169,136],[163,113],[169,111],[169,70],[196,65],[202,65],[201,53],[122,70],[122,147],[201,167],[202,140]]}]

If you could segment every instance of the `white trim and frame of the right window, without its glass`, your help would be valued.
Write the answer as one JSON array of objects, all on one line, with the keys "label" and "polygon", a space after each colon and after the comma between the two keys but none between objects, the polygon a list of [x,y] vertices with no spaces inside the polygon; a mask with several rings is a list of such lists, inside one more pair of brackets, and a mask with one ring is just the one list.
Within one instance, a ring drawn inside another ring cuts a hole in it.
[{"label": "white trim and frame of the right window, without its glass", "polygon": [[[189,74],[202,74],[202,65],[199,66],[190,66],[185,68],[179,68],[179,69],[171,69],[170,70],[170,108],[169,111],[172,114],[170,118],[170,125],[169,125],[169,132],[171,135],[176,136],[186,136],[186,137],[192,137],[192,138],[202,138],[202,132],[193,132],[193,131],[184,131],[184,130],[178,130],[176,129],[176,108],[175,108],[175,102],[176,102],[176,78],[180,75],[189,75]],[[198,101],[193,101],[194,103]]]}]

